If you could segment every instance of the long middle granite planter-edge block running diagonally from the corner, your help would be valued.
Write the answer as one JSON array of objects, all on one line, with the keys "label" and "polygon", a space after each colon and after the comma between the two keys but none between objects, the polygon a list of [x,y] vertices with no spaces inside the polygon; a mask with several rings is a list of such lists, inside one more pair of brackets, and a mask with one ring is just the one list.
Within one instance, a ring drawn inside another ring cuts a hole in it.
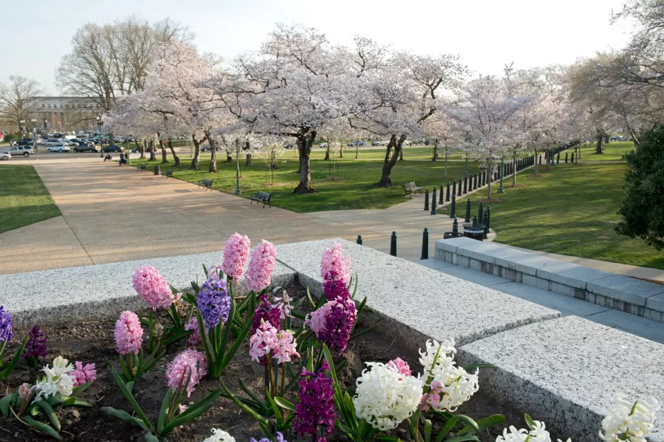
[{"label": "long middle granite planter-edge block running diagonally from the corner", "polygon": [[[426,338],[472,342],[517,326],[558,317],[546,309],[491,288],[445,275],[340,239],[281,244],[277,260],[297,271],[313,293],[322,293],[320,260],[325,248],[342,243],[358,277],[358,301],[381,315],[414,348]],[[473,240],[471,240],[473,241]]]}]

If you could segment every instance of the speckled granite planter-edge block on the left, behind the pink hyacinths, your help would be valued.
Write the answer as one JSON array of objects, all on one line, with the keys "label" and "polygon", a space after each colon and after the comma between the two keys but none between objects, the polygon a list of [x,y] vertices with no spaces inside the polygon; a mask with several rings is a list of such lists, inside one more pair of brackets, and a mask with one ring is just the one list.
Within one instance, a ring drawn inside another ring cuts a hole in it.
[{"label": "speckled granite planter-edge block on the left, behind the pink hyacinths", "polygon": [[[203,264],[221,264],[223,252],[142,259],[39,272],[0,275],[1,303],[12,313],[17,327],[59,324],[73,320],[105,319],[124,310],[145,308],[131,283],[133,271],[145,264],[154,266],[178,290],[203,282]],[[295,272],[278,264],[273,286],[286,286]],[[246,293],[241,278],[235,293]]]}]

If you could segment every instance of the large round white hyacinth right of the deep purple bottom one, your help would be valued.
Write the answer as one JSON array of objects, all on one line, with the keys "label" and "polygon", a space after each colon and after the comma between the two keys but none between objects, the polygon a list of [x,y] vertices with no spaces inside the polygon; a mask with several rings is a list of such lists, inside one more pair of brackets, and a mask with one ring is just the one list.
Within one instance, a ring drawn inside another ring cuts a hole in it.
[{"label": "large round white hyacinth right of the deep purple bottom one", "polygon": [[420,403],[423,383],[414,376],[404,376],[380,362],[367,362],[353,398],[358,418],[385,431],[396,428],[412,416]]}]

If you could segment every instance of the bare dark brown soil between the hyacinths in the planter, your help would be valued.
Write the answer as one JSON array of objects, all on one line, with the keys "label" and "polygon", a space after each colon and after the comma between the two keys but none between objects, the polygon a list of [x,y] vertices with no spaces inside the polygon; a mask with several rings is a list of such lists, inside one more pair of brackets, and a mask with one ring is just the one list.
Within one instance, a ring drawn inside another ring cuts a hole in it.
[{"label": "bare dark brown soil between the hyacinths in the planter", "polygon": [[[288,294],[293,299],[306,296],[306,290],[297,284],[286,288]],[[361,293],[358,293],[361,297]],[[306,308],[310,307],[308,302],[304,302],[301,311],[304,313]],[[147,314],[147,311],[140,312]],[[161,322],[166,323],[165,315],[158,315]],[[68,358],[71,363],[80,360],[84,363],[94,362],[97,368],[98,378],[87,389],[80,398],[93,403],[91,408],[67,408],[60,412],[59,418],[62,422],[62,437],[65,441],[77,442],[116,442],[116,441],[142,441],[143,433],[140,428],[130,425],[118,418],[104,414],[101,407],[114,407],[124,409],[132,413],[131,407],[124,396],[113,382],[111,371],[107,367],[106,360],[113,362],[118,367],[118,353],[116,353],[113,341],[114,320],[78,322],[77,324],[68,324],[56,327],[44,327],[48,342],[48,357],[46,362],[50,362],[55,356],[62,355]],[[358,321],[358,326],[367,326],[369,319],[362,315]],[[301,322],[296,321],[293,326],[301,326]],[[18,347],[19,337],[27,335],[27,331],[15,331],[15,342],[9,346],[6,354],[13,355]],[[145,335],[144,335],[145,338]],[[424,342],[422,343],[424,347]],[[179,347],[173,345],[169,348],[165,358],[149,373],[144,374],[133,389],[133,394],[138,400],[145,414],[151,422],[156,423],[164,394],[167,386],[165,383],[166,364],[181,351]],[[400,357],[406,360],[412,368],[414,374],[421,372],[422,367],[418,363],[418,349],[406,348],[400,344],[398,337],[392,338],[389,333],[381,331],[380,327],[369,333],[349,342],[347,350],[342,356],[346,358],[348,364],[340,373],[338,373],[340,382],[344,383],[345,389],[354,389],[355,381],[361,375],[364,362],[387,362],[388,360]],[[43,365],[44,362],[42,362]],[[15,392],[19,385],[24,382],[35,383],[37,375],[42,375],[37,369],[29,369],[24,360],[6,380],[0,382],[0,394]],[[222,375],[223,382],[234,394],[242,394],[239,388],[237,378],[242,378],[248,387],[261,396],[264,385],[264,369],[256,362],[252,362],[248,355],[248,344],[245,342],[240,348],[232,363]],[[466,414],[472,418],[483,418],[491,414],[504,414],[506,417],[505,425],[515,425],[524,427],[522,414],[510,409],[505,405],[499,405],[495,400],[483,396],[481,392],[481,374],[480,390],[470,400],[459,408],[458,413]],[[205,379],[196,386],[196,391],[192,393],[190,400],[198,401],[205,396],[208,389],[218,389],[219,381]],[[295,389],[297,392],[297,389]],[[294,398],[289,398],[294,401]],[[186,404],[186,400],[184,402]],[[533,416],[534,418],[536,416]],[[441,422],[434,421],[434,432],[440,428]],[[241,412],[241,410],[226,398],[218,398],[214,405],[196,420],[179,427],[169,434],[168,440],[172,442],[200,442],[210,436],[212,428],[221,428],[229,432],[238,442],[248,442],[251,436],[259,439],[261,437],[259,426],[250,416]],[[496,436],[501,432],[502,427],[495,427],[481,435],[482,441],[495,441]],[[407,429],[407,423],[403,422],[399,427],[390,432],[403,441],[410,441],[410,435]],[[291,442],[297,441],[297,436],[292,432],[284,434],[285,439]],[[39,434],[17,420],[8,420],[0,417],[0,441],[50,441],[50,437]],[[347,436],[333,431],[328,438],[329,441],[347,441]]]}]

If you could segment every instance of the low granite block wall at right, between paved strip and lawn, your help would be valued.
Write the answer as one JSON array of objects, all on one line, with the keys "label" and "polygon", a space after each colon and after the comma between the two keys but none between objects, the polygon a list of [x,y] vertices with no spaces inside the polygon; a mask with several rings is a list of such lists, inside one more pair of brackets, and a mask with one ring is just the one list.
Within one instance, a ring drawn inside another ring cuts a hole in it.
[{"label": "low granite block wall at right, between paved strip and lawn", "polygon": [[436,241],[436,258],[664,322],[664,286],[468,238]]}]

